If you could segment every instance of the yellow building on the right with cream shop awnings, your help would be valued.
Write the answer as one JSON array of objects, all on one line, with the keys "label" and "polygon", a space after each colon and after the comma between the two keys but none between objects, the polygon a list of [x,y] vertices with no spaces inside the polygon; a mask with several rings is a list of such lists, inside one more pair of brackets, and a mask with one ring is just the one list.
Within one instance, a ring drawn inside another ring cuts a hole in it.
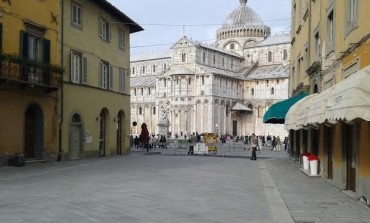
[{"label": "yellow building on the right with cream shop awnings", "polygon": [[[320,157],[321,176],[370,204],[370,20],[367,0],[293,0],[291,153]],[[295,118],[296,117],[296,118]],[[287,123],[286,123],[287,124]]]}]

